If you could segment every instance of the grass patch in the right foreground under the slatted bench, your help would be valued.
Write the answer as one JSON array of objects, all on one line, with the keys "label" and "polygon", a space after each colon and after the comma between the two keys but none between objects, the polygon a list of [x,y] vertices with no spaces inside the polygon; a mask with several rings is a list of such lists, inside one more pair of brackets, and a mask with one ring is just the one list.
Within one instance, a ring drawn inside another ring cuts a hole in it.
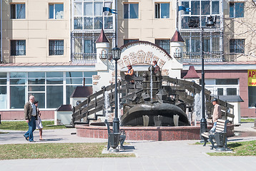
[{"label": "grass patch in the right foreground under the slatted bench", "polygon": [[255,156],[256,155],[256,140],[245,142],[231,142],[227,144],[233,152],[207,152],[208,155],[215,156]]}]

